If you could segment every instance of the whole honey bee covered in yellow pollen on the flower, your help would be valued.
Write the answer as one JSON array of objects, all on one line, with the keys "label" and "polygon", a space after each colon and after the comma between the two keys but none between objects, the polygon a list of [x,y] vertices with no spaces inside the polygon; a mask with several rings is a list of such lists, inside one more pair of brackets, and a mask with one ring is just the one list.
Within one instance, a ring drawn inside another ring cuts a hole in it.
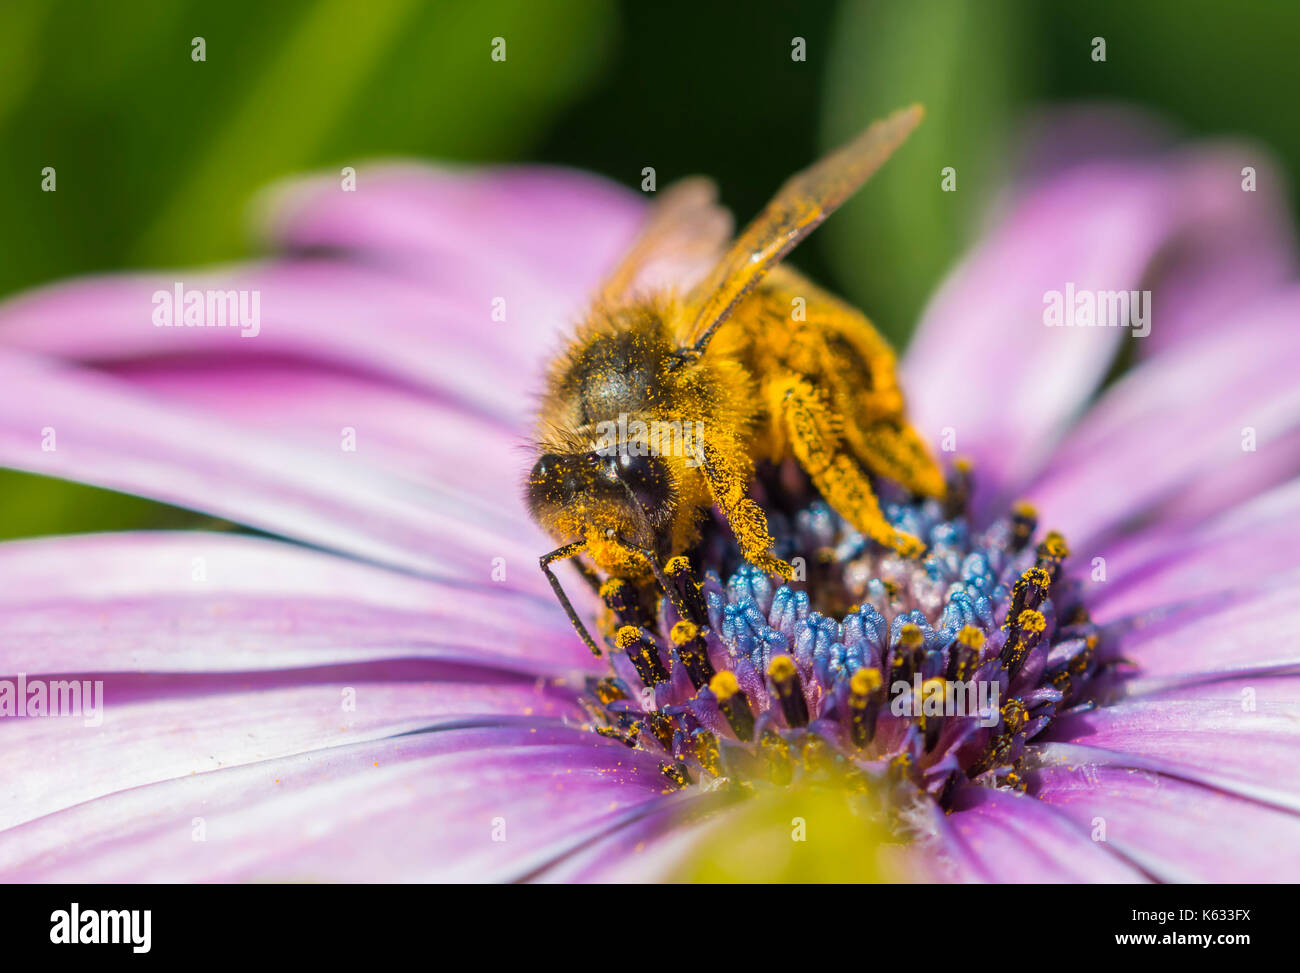
[{"label": "whole honey bee covered in yellow pollen on the flower", "polygon": [[[868,479],[932,497],[945,489],[907,423],[893,350],[861,312],[779,265],[920,117],[919,105],[894,112],[792,177],[724,251],[731,220],[712,183],[664,190],[551,364],[525,500],[562,542],[540,563],[597,656],[555,562],[575,559],[595,588],[602,574],[641,592],[662,588],[680,618],[698,617],[682,555],[716,507],[746,561],[793,576],[749,496],[759,460],[793,458],[863,535],[905,557],[923,553],[885,519]],[[685,294],[645,286],[654,268],[718,252]]]}]

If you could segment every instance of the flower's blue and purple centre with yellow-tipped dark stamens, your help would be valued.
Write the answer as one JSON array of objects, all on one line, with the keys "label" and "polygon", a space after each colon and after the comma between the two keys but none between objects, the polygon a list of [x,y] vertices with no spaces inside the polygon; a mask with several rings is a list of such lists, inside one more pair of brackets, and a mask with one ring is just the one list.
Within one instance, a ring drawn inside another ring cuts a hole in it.
[{"label": "flower's blue and purple centre with yellow-tipped dark stamens", "polygon": [[586,687],[593,727],[656,753],[675,787],[836,779],[940,805],[967,782],[1023,788],[1026,741],[1087,704],[1098,628],[1062,574],[1065,539],[1035,542],[1027,505],[976,531],[967,494],[959,468],[946,503],[885,503],[920,559],[815,497],[770,513],[797,571],[780,585],[706,531],[668,570],[688,618],[607,583],[616,648]]}]

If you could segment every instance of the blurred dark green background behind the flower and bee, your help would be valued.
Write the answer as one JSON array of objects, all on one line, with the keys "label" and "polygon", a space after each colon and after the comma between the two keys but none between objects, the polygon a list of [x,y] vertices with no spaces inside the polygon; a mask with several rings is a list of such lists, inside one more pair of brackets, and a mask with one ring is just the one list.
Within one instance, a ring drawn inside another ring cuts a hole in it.
[{"label": "blurred dark green background behind the flower and bee", "polygon": [[[794,258],[904,342],[1027,108],[1122,99],[1187,134],[1252,137],[1296,173],[1297,40],[1294,0],[5,0],[0,297],[247,256],[260,187],[374,156],[540,160],[629,186],[646,165],[660,186],[703,172],[745,219],[827,146],[920,100],[909,164]],[[57,193],[39,191],[46,165]],[[933,191],[944,165],[957,193]],[[0,536],[194,522],[0,473]]]}]

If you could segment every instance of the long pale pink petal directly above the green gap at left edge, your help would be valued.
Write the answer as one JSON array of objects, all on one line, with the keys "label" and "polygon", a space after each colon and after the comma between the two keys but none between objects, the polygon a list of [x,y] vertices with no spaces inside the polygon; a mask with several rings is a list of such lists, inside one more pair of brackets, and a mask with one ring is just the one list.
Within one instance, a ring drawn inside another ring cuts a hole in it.
[{"label": "long pale pink petal directly above the green gap at left edge", "polygon": [[[458,583],[504,558],[510,584],[546,593],[538,532],[464,496],[233,428],[125,382],[0,354],[0,464],[202,510],[354,557]],[[42,449],[56,434],[56,449]],[[510,449],[510,441],[481,444]],[[517,503],[514,505],[517,510]],[[523,536],[521,536],[523,535]]]}]

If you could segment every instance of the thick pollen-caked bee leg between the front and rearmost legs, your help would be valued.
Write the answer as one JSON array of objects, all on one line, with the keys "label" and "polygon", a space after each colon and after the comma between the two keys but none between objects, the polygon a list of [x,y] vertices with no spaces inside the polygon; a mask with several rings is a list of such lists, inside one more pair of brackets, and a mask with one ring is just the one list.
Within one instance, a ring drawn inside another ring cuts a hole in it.
[{"label": "thick pollen-caked bee leg between the front and rearmost legs", "polygon": [[871,481],[857,458],[844,449],[841,419],[805,379],[786,379],[771,388],[772,411],[783,416],[790,447],[812,484],[849,523],[904,557],[919,557],[920,539],[885,520]]}]

